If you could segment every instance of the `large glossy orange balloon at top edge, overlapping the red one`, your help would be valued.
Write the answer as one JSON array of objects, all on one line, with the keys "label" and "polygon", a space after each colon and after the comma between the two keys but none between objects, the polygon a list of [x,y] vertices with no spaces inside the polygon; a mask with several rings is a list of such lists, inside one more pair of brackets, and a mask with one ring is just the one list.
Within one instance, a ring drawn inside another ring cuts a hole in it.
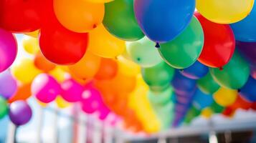
[{"label": "large glossy orange balloon at top edge, overlapping the red one", "polygon": [[84,0],[54,0],[53,4],[57,19],[70,31],[85,33],[103,21],[104,4]]}]

